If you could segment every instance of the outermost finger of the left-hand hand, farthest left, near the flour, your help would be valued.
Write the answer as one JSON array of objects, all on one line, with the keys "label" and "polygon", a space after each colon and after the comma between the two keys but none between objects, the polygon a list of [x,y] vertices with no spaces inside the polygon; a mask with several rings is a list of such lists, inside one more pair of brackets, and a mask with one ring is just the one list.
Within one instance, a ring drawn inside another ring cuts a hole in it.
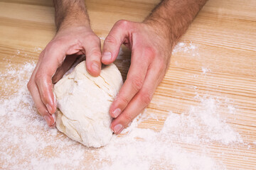
[{"label": "outermost finger of the left-hand hand, farthest left, near the flour", "polygon": [[33,101],[36,104],[36,108],[37,108],[38,112],[46,120],[46,123],[49,126],[53,125],[55,123],[55,115],[54,114],[50,115],[48,113],[48,110],[47,110],[46,106],[41,101],[41,96],[39,94],[38,88],[36,86],[36,83],[34,83],[34,81],[30,81],[30,83],[28,83],[28,91],[31,93]]}]

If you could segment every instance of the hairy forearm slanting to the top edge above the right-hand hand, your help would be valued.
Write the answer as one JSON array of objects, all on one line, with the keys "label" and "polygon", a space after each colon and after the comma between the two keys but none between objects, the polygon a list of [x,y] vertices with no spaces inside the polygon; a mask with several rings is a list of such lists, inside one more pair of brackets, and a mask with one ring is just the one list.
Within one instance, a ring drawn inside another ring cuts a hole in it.
[{"label": "hairy forearm slanting to the top edge above the right-hand hand", "polygon": [[164,33],[175,45],[207,0],[164,0],[154,8],[145,23],[157,23],[159,33]]}]

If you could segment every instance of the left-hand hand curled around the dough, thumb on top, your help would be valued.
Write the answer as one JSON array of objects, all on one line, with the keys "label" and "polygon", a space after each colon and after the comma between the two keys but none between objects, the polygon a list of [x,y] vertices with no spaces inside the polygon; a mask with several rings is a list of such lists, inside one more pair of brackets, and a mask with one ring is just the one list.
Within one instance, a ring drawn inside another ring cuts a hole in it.
[{"label": "left-hand hand curled around the dough, thumb on top", "polygon": [[[55,123],[56,102],[53,97],[53,81],[61,79],[78,55],[83,54],[86,55],[87,71],[92,76],[98,76],[102,55],[100,38],[92,32],[90,27],[77,26],[58,30],[39,56],[36,68],[28,81],[28,90],[36,103],[38,112],[49,126]],[[63,64],[65,57],[68,62]]]}]

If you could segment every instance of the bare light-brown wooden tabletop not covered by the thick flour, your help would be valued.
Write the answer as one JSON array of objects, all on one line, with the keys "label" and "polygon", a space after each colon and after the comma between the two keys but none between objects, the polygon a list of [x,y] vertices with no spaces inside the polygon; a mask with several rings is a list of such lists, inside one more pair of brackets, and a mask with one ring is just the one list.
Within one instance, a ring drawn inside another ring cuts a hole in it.
[{"label": "bare light-brown wooden tabletop not covered by the thick flour", "polygon": [[[116,21],[142,21],[158,3],[158,0],[86,1],[92,30],[102,41]],[[0,72],[21,67],[24,62],[36,62],[53,35],[54,8],[50,0],[1,0]],[[116,64],[125,77],[130,52],[125,47],[122,51]],[[1,90],[1,97],[16,92],[16,86],[9,89],[12,90],[8,93]],[[170,112],[186,116],[192,106],[201,106],[208,98],[218,101],[220,116],[239,133],[243,142],[228,147],[231,145],[213,141],[207,145],[210,147],[207,155],[223,162],[227,169],[256,169],[255,0],[207,2],[175,48],[169,70],[146,108],[145,114],[159,118],[144,120],[139,128],[161,130]],[[235,109],[234,114],[228,112],[228,106]],[[201,147],[183,141],[176,143],[191,152]],[[225,155],[220,155],[223,152]],[[0,165],[4,164],[2,161]],[[9,168],[12,164],[15,162]]]}]

